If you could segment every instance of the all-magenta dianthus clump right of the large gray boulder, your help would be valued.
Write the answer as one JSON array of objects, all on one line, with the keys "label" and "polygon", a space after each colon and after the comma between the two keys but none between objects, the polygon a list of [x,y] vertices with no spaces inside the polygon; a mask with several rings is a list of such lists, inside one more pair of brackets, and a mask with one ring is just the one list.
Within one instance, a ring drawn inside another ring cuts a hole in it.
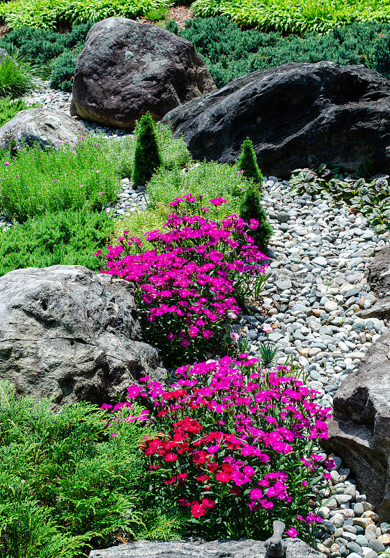
[{"label": "all-magenta dianthus clump right of the large gray boulder", "polygon": [[153,250],[125,232],[104,256],[102,273],[134,285],[143,338],[159,347],[166,365],[221,351],[226,323],[240,311],[237,295],[265,271],[267,258],[247,234],[258,223],[236,215],[219,220],[217,208],[224,203],[210,200],[210,219],[212,210],[202,207],[201,197],[175,199],[171,205],[185,205],[187,215],[178,208],[163,230],[146,233]]}]

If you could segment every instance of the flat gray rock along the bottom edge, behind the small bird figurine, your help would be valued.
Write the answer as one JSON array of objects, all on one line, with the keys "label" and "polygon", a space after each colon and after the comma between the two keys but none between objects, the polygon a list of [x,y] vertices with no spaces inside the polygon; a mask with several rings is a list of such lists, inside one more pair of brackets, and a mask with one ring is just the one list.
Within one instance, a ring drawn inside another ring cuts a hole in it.
[{"label": "flat gray rock along the bottom edge, behind the small bird figurine", "polygon": [[[323,558],[299,538],[286,538],[287,558]],[[104,550],[92,550],[88,558],[264,558],[262,541],[138,541]]]}]

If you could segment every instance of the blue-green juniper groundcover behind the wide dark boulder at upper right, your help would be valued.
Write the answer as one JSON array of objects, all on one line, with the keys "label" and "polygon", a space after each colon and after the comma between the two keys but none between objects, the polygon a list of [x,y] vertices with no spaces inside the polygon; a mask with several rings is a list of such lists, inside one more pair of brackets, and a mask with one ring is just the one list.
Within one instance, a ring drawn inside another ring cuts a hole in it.
[{"label": "blue-green juniper groundcover behind the wide dark boulder at upper right", "polygon": [[244,74],[286,62],[364,64],[390,77],[388,23],[354,23],[333,28],[325,35],[310,33],[301,38],[255,29],[242,31],[223,16],[195,17],[185,29],[178,29],[178,34],[194,43],[218,87]]}]

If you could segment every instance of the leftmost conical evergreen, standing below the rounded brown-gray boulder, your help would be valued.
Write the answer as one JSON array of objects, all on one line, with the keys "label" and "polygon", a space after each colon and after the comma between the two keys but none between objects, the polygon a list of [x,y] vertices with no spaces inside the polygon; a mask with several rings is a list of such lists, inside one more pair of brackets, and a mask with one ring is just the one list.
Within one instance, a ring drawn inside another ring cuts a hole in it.
[{"label": "leftmost conical evergreen, standing below the rounded brown-gray boulder", "polygon": [[137,126],[137,143],[134,153],[134,186],[145,186],[154,172],[162,165],[155,124],[150,112],[141,116]]}]

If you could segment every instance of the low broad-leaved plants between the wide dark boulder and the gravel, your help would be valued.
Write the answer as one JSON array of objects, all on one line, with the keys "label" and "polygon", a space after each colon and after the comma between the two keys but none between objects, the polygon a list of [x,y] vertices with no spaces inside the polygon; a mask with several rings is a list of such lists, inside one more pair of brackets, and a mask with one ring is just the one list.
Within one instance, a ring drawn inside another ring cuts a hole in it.
[{"label": "low broad-leaved plants between the wide dark boulder and the gravel", "polygon": [[336,204],[346,203],[354,213],[363,213],[377,234],[390,230],[389,176],[373,179],[359,176],[345,177],[336,167],[320,165],[317,170],[297,169],[292,173],[291,195],[308,193],[333,199]]}]

